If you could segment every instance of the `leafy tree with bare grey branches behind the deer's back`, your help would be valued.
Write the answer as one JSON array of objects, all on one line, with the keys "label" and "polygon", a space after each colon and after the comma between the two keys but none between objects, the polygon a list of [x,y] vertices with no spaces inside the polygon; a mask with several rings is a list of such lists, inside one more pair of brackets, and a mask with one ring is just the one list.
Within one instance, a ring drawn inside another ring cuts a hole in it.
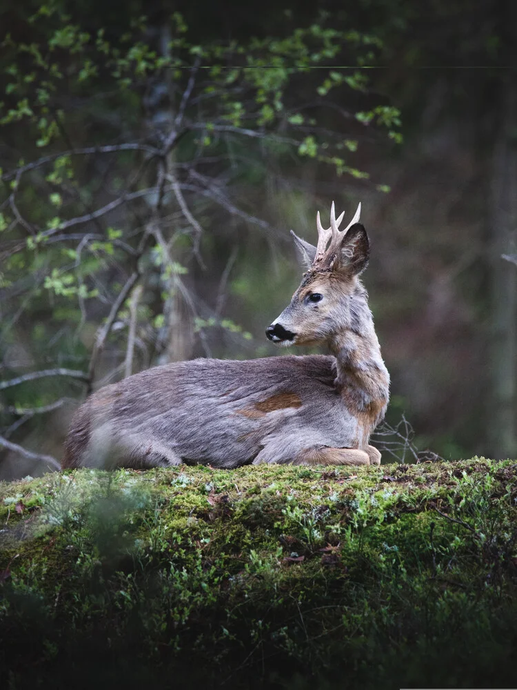
[{"label": "leafy tree with bare grey branches behind the deer's back", "polygon": [[[367,179],[358,143],[370,123],[400,139],[400,119],[370,108],[365,72],[338,69],[372,62],[380,41],[328,14],[278,37],[198,44],[179,12],[156,23],[133,11],[114,32],[83,27],[81,7],[37,4],[2,43],[0,349],[6,379],[23,342],[28,366],[73,362],[90,390],[103,362],[106,382],[211,355],[214,331],[245,345],[249,331],[222,311],[241,230],[278,242],[254,211],[258,188],[301,184],[301,162]],[[362,104],[356,117],[344,102]],[[329,110],[343,124],[327,126]],[[205,287],[206,262],[219,290]],[[71,386],[3,386],[5,437],[36,418],[17,408],[76,397]]]}]

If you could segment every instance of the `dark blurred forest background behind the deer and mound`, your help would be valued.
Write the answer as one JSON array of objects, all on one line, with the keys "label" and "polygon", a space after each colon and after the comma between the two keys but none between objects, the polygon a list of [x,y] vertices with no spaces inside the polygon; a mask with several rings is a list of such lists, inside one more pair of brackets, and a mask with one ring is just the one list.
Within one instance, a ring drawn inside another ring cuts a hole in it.
[{"label": "dark blurred forest background behind the deer and mound", "polygon": [[392,429],[516,457],[515,3],[10,1],[0,27],[0,479],[57,467],[103,384],[277,355],[289,230],[332,200],[363,204]]}]

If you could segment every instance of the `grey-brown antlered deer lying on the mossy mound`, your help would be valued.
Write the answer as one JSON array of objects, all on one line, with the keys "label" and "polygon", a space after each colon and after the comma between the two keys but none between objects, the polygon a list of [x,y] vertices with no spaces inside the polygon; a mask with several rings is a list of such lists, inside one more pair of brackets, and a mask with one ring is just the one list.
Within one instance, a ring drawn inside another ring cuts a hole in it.
[{"label": "grey-brown antlered deer lying on the mossy mound", "polygon": [[327,344],[333,356],[194,359],[105,386],[75,414],[63,468],[381,462],[368,440],[389,375],[358,279],[369,257],[360,210],[343,231],[334,204],[330,228],[318,213],[317,247],[292,233],[307,272],[266,329],[278,345]]}]

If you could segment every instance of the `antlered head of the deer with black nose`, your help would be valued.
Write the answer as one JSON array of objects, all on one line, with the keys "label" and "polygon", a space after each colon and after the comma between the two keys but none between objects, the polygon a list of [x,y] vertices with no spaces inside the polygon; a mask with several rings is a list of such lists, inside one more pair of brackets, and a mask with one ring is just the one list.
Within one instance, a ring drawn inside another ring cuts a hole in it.
[{"label": "antlered head of the deer with black nose", "polygon": [[266,328],[267,338],[283,345],[330,343],[337,333],[354,330],[361,316],[370,317],[366,291],[358,280],[369,259],[369,241],[358,223],[361,204],[344,230],[336,219],[334,201],[330,228],[323,228],[316,216],[318,244],[313,246],[293,233],[296,248],[307,267],[291,303]]}]

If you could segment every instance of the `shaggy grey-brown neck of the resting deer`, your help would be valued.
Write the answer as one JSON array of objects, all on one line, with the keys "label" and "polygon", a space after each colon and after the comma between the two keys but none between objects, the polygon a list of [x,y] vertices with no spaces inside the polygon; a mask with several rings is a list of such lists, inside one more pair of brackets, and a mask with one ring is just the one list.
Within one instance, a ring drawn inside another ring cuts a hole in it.
[{"label": "shaggy grey-brown neck of the resting deer", "polygon": [[329,346],[336,357],[336,388],[349,412],[369,435],[386,411],[389,373],[366,305],[361,319],[356,321],[353,329],[334,333]]}]

